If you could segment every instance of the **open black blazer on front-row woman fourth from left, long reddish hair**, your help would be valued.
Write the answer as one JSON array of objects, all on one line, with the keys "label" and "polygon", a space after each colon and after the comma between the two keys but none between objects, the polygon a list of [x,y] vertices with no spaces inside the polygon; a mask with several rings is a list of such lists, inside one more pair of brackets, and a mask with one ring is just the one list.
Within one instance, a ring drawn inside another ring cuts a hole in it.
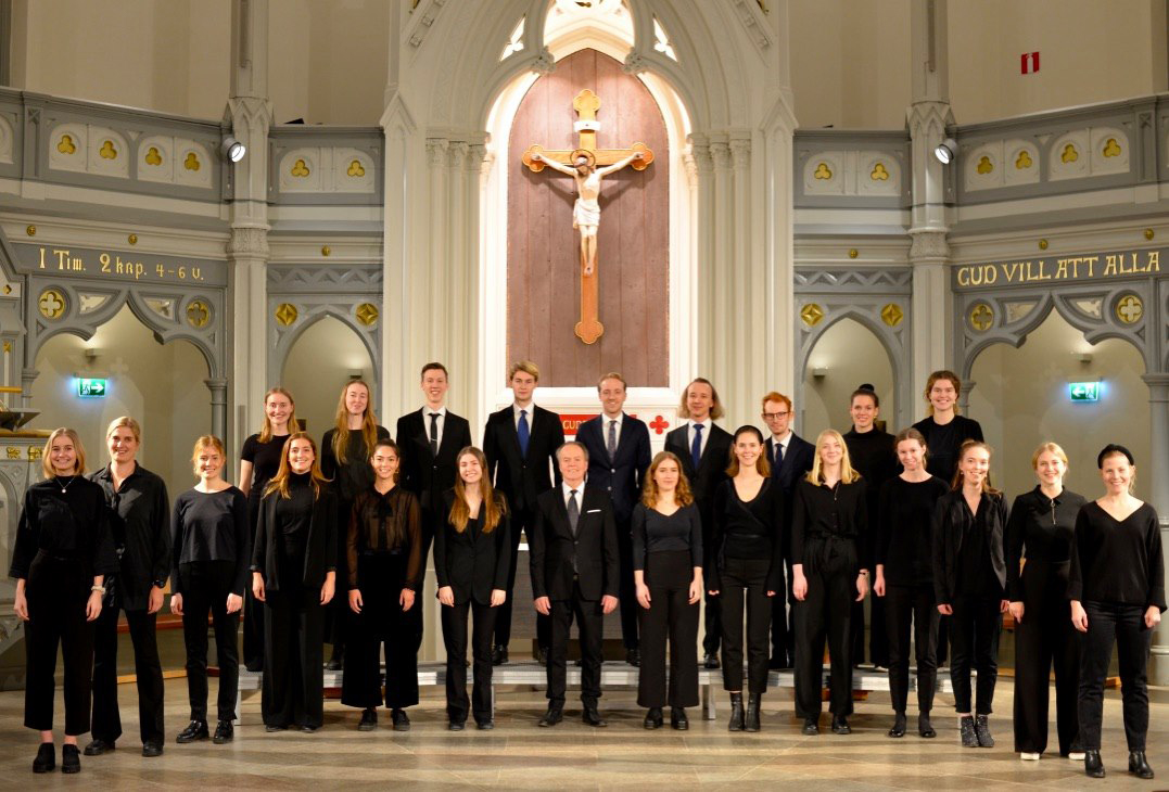
[{"label": "open black blazer on front-row woman fourth from left, long reddish hair", "polygon": [[[260,502],[256,544],[251,551],[251,571],[263,574],[264,588],[270,591],[279,590],[281,579],[281,537],[276,533],[276,501],[279,498],[281,494],[274,492]],[[325,486],[312,503],[304,550],[304,586],[310,590],[320,588],[325,583],[325,574],[332,571],[337,571],[337,495],[332,487]]]}]

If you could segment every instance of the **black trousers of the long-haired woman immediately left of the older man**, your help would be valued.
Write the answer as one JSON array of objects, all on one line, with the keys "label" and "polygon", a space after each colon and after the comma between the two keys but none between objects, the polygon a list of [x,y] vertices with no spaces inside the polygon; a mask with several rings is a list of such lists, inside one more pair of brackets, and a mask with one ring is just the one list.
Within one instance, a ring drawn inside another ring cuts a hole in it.
[{"label": "black trousers of the long-haired woman immediately left of the older man", "polygon": [[[492,718],[491,711],[491,634],[499,609],[468,599],[442,606],[442,639],[447,646],[447,717],[451,723],[466,720],[470,709],[476,723]],[[466,696],[466,621],[470,617],[471,666],[475,678],[473,700]]]}]

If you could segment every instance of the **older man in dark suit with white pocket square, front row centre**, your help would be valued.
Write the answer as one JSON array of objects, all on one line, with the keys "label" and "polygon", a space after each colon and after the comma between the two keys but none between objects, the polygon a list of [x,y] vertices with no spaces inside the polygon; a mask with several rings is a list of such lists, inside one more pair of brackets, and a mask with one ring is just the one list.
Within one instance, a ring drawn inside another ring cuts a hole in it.
[{"label": "older man in dark suit with white pocket square, front row centre", "polygon": [[606,725],[597,711],[601,697],[604,614],[617,607],[617,535],[609,493],[584,484],[588,451],[566,443],[556,452],[562,484],[541,494],[528,535],[535,610],[552,623],[548,649],[548,711],[541,727],[563,720],[568,632],[576,618],[581,637],[583,721]]}]

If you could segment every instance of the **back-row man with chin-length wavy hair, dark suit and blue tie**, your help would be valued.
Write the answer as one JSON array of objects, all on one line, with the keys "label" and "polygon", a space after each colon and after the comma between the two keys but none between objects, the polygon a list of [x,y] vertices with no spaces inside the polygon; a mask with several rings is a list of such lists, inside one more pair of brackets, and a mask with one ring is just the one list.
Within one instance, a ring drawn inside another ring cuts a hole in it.
[{"label": "back-row man with chin-length wavy hair, dark suit and blue tie", "polygon": [[[722,417],[722,402],[710,380],[696,378],[682,395],[678,416],[686,423],[665,436],[665,450],[682,460],[682,472],[690,481],[698,515],[703,521],[703,553],[711,558],[714,534],[714,492],[727,478],[731,464],[732,437],[728,431],[714,425],[714,418]],[[705,635],[703,651],[706,668],[719,667],[719,645],[722,640],[722,609],[718,597],[706,593],[704,619]]]}]

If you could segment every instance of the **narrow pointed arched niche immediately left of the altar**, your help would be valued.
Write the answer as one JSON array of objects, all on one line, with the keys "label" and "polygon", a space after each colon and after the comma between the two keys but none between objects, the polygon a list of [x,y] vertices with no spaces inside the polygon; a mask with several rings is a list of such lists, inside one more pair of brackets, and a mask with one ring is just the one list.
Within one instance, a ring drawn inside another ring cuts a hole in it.
[{"label": "narrow pointed arched niche immediately left of the altar", "polygon": [[[292,394],[297,418],[319,443],[333,426],[341,387],[355,377],[376,389],[368,348],[348,325],[324,314],[288,348],[279,384]],[[371,396],[371,404],[376,405],[378,394]],[[385,416],[379,421],[386,425]]]}]

